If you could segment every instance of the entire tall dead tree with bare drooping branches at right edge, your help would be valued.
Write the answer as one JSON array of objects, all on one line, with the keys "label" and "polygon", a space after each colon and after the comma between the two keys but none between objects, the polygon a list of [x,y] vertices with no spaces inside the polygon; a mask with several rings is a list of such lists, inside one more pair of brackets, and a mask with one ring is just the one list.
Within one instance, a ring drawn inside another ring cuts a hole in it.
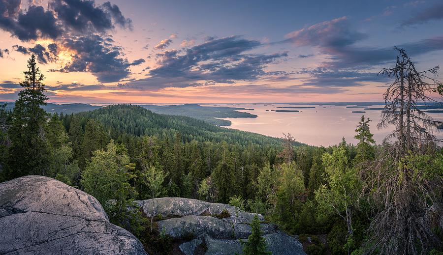
[{"label": "entire tall dead tree with bare drooping branches at right edge", "polygon": [[442,95],[442,85],[435,79],[438,66],[419,72],[403,49],[395,50],[399,53],[395,67],[380,71],[395,80],[383,95],[386,105],[378,125],[395,129],[365,173],[363,194],[374,217],[364,248],[365,254],[427,254],[439,242],[430,212],[431,207],[441,208],[443,178],[426,172],[426,163],[418,167],[414,163],[423,147],[438,148],[433,129],[442,122],[425,110],[431,103],[441,103],[433,97]]}]

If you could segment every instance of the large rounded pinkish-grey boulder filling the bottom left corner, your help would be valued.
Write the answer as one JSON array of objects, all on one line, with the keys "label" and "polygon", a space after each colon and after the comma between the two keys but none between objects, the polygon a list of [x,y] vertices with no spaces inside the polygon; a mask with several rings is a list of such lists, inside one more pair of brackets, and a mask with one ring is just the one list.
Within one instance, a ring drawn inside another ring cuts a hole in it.
[{"label": "large rounded pinkish-grey boulder filling the bottom left corner", "polygon": [[146,255],[94,197],[35,175],[0,183],[0,254]]}]

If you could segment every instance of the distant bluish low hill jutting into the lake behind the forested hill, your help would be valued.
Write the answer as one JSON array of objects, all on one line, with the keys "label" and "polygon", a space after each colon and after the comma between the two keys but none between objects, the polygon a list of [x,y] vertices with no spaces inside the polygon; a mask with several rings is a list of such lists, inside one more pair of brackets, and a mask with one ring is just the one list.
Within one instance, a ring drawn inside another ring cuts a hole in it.
[{"label": "distant bluish low hill jutting into the lake behind the forested hill", "polygon": [[230,126],[231,121],[220,118],[256,118],[257,115],[243,113],[237,110],[253,110],[246,108],[224,107],[224,106],[200,106],[197,104],[184,105],[140,105],[154,113],[188,116],[201,119],[206,122],[219,125]]}]

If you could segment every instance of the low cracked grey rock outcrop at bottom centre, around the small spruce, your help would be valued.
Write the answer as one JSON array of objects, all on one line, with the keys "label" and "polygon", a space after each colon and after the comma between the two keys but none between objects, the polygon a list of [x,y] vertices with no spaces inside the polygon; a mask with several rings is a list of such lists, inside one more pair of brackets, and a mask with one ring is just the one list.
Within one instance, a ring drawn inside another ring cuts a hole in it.
[{"label": "low cracked grey rock outcrop at bottom centre, around the small spruce", "polygon": [[[251,234],[255,214],[234,206],[209,203],[190,198],[156,198],[154,210],[152,199],[136,201],[148,216],[161,218],[157,221],[160,231],[175,240],[185,239],[179,248],[186,255],[193,255],[197,247],[206,246],[206,255],[241,254],[241,239]],[[160,217],[159,217],[160,216]],[[304,255],[296,237],[287,235],[274,224],[260,224],[268,250],[274,255]]]}]

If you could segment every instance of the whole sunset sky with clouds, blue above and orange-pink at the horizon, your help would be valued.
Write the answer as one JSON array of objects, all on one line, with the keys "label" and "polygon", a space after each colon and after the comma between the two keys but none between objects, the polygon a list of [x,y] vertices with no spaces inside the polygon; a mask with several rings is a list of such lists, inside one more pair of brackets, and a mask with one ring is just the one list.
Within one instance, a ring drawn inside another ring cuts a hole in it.
[{"label": "whole sunset sky with clouds, blue above and orange-pink at the horizon", "polygon": [[382,101],[394,46],[443,64],[443,2],[0,0],[0,101],[32,53],[49,102]]}]

